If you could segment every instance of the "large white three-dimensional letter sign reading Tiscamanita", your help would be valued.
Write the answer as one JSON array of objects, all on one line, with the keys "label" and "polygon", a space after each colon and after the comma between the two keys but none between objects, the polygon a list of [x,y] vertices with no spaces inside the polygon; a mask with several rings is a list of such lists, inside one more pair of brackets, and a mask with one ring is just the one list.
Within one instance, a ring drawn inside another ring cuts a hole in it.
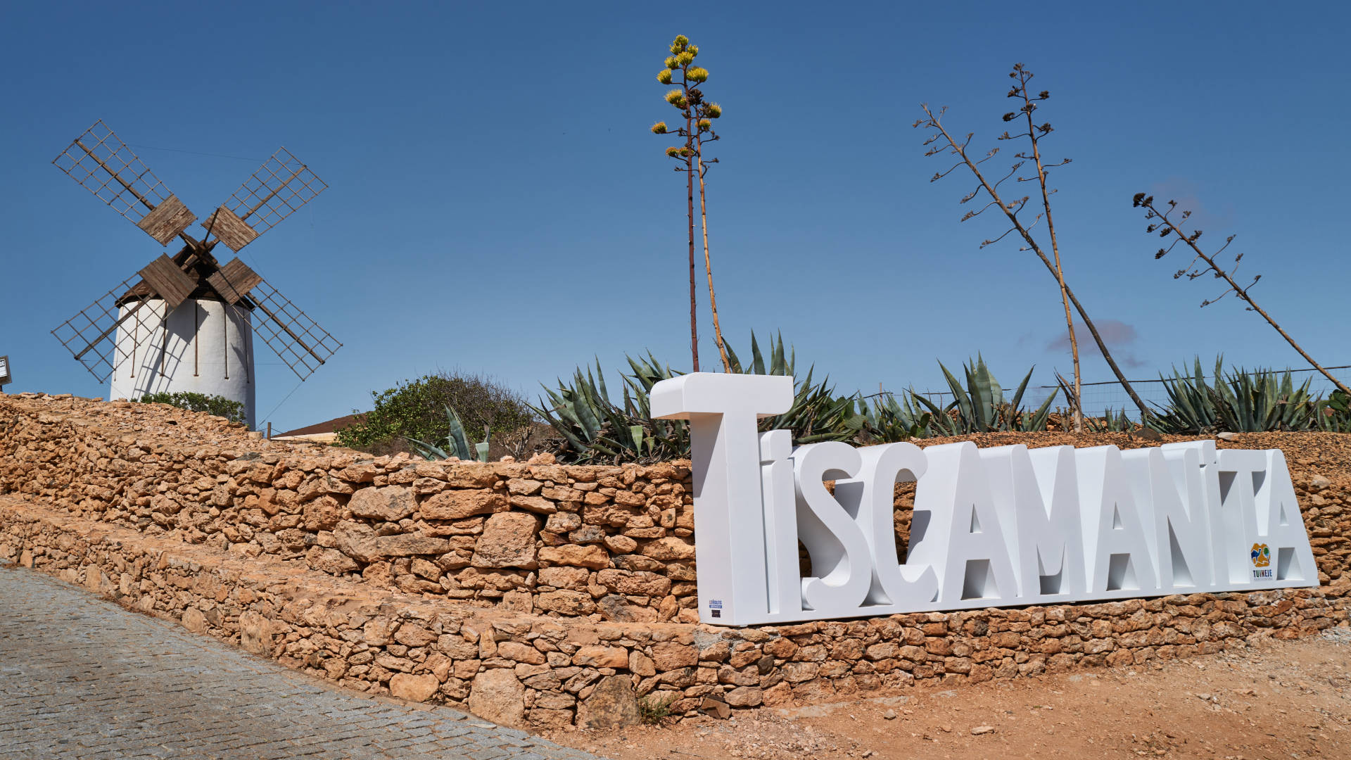
[{"label": "large white three-dimensional letter sign reading Tiscamanita", "polygon": [[[788,430],[757,430],[792,406],[784,376],[693,373],[653,387],[654,418],[689,421],[703,622],[1319,584],[1279,450],[793,448]],[[916,483],[904,564],[898,481]]]}]

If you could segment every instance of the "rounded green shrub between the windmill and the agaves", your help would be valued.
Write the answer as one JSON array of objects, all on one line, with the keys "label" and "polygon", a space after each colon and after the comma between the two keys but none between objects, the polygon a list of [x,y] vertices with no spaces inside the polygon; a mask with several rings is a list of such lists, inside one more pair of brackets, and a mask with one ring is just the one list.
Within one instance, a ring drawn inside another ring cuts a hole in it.
[{"label": "rounded green shrub between the windmill and the agaves", "polygon": [[446,435],[446,407],[459,414],[470,437],[485,427],[508,434],[536,421],[523,396],[478,375],[427,375],[370,396],[374,408],[358,412],[357,422],[338,430],[339,445],[370,450],[401,448],[408,440],[440,440]]}]

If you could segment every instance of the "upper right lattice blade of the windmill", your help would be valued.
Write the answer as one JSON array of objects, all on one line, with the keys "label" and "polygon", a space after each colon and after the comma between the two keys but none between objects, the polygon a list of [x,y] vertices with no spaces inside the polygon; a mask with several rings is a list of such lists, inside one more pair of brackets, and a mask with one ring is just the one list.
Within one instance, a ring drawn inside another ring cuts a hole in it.
[{"label": "upper right lattice blade of the windmill", "polygon": [[238,252],[326,189],[309,166],[280,147],[201,226]]}]

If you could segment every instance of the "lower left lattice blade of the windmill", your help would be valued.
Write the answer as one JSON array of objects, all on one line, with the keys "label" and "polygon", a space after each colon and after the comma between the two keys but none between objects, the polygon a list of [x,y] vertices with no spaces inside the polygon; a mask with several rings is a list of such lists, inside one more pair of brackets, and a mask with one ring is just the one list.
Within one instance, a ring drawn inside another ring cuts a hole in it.
[{"label": "lower left lattice blade of the windmill", "polygon": [[105,383],[135,352],[135,338],[130,342],[118,342],[119,327],[134,337],[149,338],[163,325],[166,314],[163,302],[151,292],[145,280],[136,281],[135,277],[128,277],[62,322],[51,334],[91,375]]}]

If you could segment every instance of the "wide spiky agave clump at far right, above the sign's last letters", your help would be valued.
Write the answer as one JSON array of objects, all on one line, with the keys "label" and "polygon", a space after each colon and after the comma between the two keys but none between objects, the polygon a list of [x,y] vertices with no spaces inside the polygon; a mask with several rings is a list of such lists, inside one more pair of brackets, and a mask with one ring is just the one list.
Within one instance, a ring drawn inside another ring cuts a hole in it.
[{"label": "wide spiky agave clump at far right, above the sign's last letters", "polygon": [[1271,430],[1316,430],[1337,426],[1325,422],[1320,411],[1329,408],[1309,395],[1309,380],[1296,385],[1290,371],[1224,372],[1224,357],[1215,361],[1215,385],[1206,383],[1201,360],[1190,375],[1173,369],[1173,377],[1159,376],[1169,404],[1148,425],[1161,433],[1263,433]]}]

